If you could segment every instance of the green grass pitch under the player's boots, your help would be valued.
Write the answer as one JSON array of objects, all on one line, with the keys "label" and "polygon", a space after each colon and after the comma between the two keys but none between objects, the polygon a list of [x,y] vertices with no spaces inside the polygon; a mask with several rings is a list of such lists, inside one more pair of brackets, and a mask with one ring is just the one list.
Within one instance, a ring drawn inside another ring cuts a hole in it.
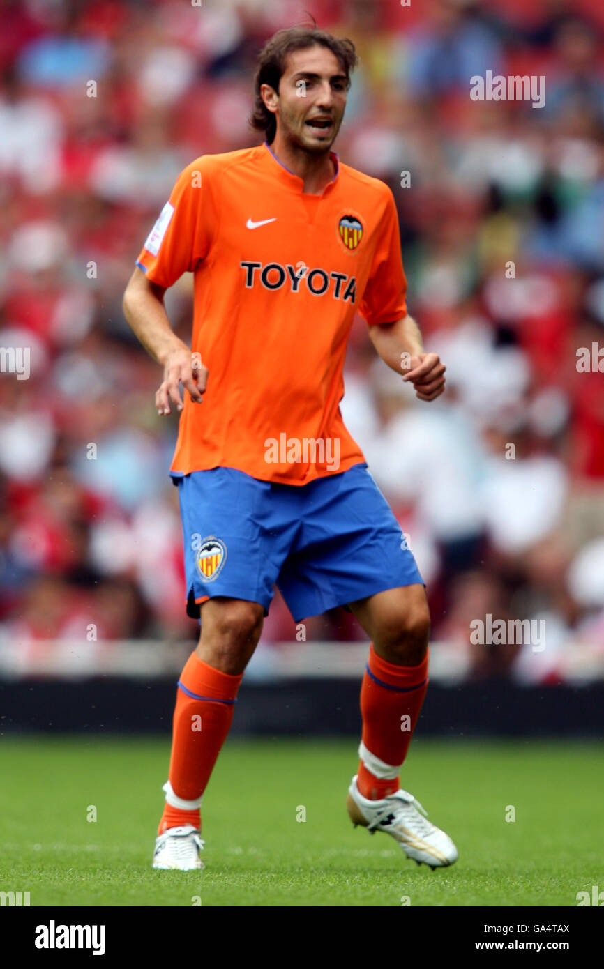
[{"label": "green grass pitch under the player's boots", "polygon": [[4,736],[0,890],[50,906],[576,906],[604,887],[596,745],[416,738],[402,785],[460,851],[434,872],[352,828],[354,740],[271,738],[228,741],[220,756],[206,870],[152,871],[168,758],[168,738]]}]

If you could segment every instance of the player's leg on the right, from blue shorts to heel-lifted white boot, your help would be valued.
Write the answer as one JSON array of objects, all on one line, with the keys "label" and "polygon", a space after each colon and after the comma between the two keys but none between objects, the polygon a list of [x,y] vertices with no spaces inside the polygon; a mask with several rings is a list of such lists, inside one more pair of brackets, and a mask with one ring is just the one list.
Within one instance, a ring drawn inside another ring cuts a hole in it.
[{"label": "player's leg on the right, from blue shorts to heel-lifted white boot", "polygon": [[350,817],[371,832],[392,834],[409,858],[431,867],[452,864],[458,856],[451,838],[398,787],[428,681],[424,582],[365,465],[306,487],[309,500],[301,514],[296,555],[282,568],[277,584],[296,621],[347,605],[372,641],[359,749],[366,795],[355,775],[347,801]]}]

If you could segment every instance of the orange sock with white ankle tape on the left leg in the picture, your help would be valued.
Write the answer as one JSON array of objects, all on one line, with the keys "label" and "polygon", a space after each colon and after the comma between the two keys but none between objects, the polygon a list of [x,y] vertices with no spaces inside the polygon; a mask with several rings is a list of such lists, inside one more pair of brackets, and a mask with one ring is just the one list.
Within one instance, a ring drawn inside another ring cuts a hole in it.
[{"label": "orange sock with white ankle tape on the left leg in the picture", "polygon": [[178,680],[166,806],[158,834],[167,828],[201,828],[200,807],[209,775],[231,729],[243,673],[214,670],[191,653]]}]

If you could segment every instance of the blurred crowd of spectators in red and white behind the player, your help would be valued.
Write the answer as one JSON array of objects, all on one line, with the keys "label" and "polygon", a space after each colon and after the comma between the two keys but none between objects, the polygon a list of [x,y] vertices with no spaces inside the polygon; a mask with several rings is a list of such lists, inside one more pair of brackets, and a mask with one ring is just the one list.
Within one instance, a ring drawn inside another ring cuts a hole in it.
[{"label": "blurred crowd of spectators in red and white behind the player", "polygon": [[[432,639],[474,678],[602,675],[604,373],[577,368],[604,348],[600,0],[0,0],[0,346],[31,348],[28,380],[0,375],[0,649],[35,658],[89,624],[197,636],[176,419],[121,298],[178,172],[258,143],[257,53],[304,10],[358,46],[335,149],[392,187],[409,311],[447,366],[447,393],[418,402],[359,318],[342,403]],[[545,107],[471,101],[487,70],[545,76]],[[188,340],[190,278],[167,307]],[[473,645],[488,614],[545,619],[547,647]],[[277,595],[263,641],[296,635]],[[334,610],[306,638],[364,634]]]}]

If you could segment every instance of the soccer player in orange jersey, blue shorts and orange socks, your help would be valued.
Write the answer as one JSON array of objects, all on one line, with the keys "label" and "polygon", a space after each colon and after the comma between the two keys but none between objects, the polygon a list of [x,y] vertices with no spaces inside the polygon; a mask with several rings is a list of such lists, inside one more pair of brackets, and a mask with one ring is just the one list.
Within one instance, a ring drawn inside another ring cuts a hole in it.
[{"label": "soccer player in orange jersey, blue shorts and orange socks", "polygon": [[[418,864],[458,857],[399,787],[428,685],[426,590],[338,406],[357,311],[421,400],[445,383],[406,311],[392,192],[331,150],[356,63],[348,40],[276,33],[260,53],[251,118],[266,141],[180,174],[124,295],[128,323],[164,368],[158,412],[181,411],[171,475],[187,611],[201,618],[178,680],[154,868],[203,867],[202,797],[275,584],[296,622],[345,606],[371,641],[354,825],[391,834]],[[163,303],[186,271],[190,349]]]}]

